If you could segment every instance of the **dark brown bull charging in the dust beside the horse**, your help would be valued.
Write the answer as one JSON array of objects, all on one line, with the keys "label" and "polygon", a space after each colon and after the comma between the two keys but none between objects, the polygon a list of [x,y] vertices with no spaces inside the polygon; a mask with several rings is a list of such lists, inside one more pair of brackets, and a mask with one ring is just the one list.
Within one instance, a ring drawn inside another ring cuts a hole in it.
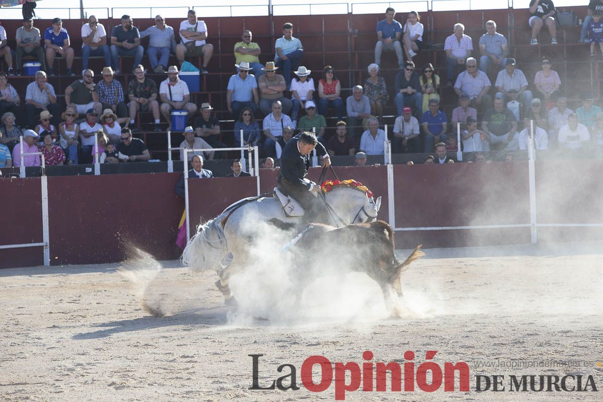
[{"label": "dark brown bull charging in the dust beside the horse", "polygon": [[365,272],[376,281],[384,293],[388,309],[393,309],[393,313],[400,315],[400,274],[408,269],[411,262],[425,256],[420,248],[421,245],[418,245],[406,260],[400,262],[395,254],[391,226],[387,222],[376,221],[341,228],[312,224],[289,243],[287,250],[293,253],[295,269],[292,272],[297,274],[295,280],[300,292],[316,277],[308,272],[308,266],[318,270],[325,266],[343,266]]}]

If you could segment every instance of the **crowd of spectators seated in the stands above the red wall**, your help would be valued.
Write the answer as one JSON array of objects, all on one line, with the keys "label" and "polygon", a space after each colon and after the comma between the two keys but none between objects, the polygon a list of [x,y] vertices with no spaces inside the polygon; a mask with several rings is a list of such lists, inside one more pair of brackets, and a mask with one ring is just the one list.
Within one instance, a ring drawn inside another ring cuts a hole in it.
[{"label": "crowd of spectators seated in the stands above the red wall", "polygon": [[[601,1],[590,2],[582,25],[580,41],[591,44],[591,54],[597,43],[603,49]],[[557,44],[552,1],[532,0],[529,11],[531,45],[538,44],[544,27],[551,35],[551,44]],[[485,22],[485,33],[479,38],[475,57],[473,39],[465,33],[464,25],[453,25],[452,34],[444,42],[446,80],[437,74],[432,63],[418,68],[412,59],[425,48],[420,20],[420,15],[411,11],[405,23],[400,24],[396,11],[387,8],[385,18],[376,26],[374,63],[367,66],[364,85],[353,86],[351,95],[345,99],[332,66],[324,66],[321,79],[315,84],[310,77],[312,70],[301,65],[304,48],[301,40],[293,36],[293,24],[282,25],[282,37],[274,44],[274,57],[264,64],[260,62],[262,51],[253,42],[252,32],[242,31],[241,41],[233,47],[236,74],[230,77],[226,94],[226,107],[235,121],[235,143],[242,132],[244,145],[257,145],[263,155],[277,159],[296,132],[314,131],[333,155],[355,155],[358,151],[379,155],[384,153],[383,142],[387,137],[379,126],[384,123],[385,108],[393,105],[397,116],[392,130],[394,152],[437,152],[441,148],[438,144],[442,143],[448,151],[458,146],[466,152],[525,149],[530,138],[534,138],[537,149],[552,146],[573,149],[601,140],[599,122],[603,116],[601,109],[593,104],[594,96],[584,93],[582,107],[570,110],[560,77],[548,57],[541,60],[541,70],[528,79],[517,67],[520,63],[510,57],[507,39],[496,31],[493,20]],[[108,40],[106,28],[95,16],[90,16],[81,28],[84,70],[80,79],[66,87],[64,102],[48,83],[48,76],[55,74],[55,57],[65,60],[66,75],[75,75],[72,71],[75,52],[62,20],[52,20],[42,39],[40,30],[33,27],[33,20],[25,18],[16,31],[16,51],[7,46],[6,33],[0,27],[0,57],[8,66],[7,73],[0,72],[0,144],[8,149],[8,154],[14,154],[19,136],[24,136],[26,143],[34,142],[30,146],[40,144],[51,160],[48,164],[90,163],[96,155],[107,163],[148,160],[144,143],[131,135],[138,130],[137,113],[150,111],[155,131],[162,131],[163,117],[169,131],[171,112],[184,110],[191,125],[183,133],[181,148],[210,149],[189,153],[189,160],[194,155],[204,159],[224,157],[219,148],[226,145],[221,140],[220,122],[212,112],[213,107],[207,102],[201,107],[192,102],[188,85],[178,75],[180,69],[168,66],[171,54],[181,63],[185,57],[199,56],[203,60],[198,66],[200,74],[207,74],[213,46],[207,42],[206,24],[197,19],[194,10],[189,10],[178,30],[180,43],[176,43],[174,29],[162,16],[156,16],[154,23],[140,32],[131,17],[124,15],[121,25],[112,28]],[[159,86],[146,77],[141,64],[145,49],[140,39],[147,36],[150,68],[167,75]],[[386,57],[384,52],[394,52],[400,68],[393,83],[393,99],[388,89],[391,83],[379,75],[382,57]],[[22,74],[24,56],[36,57],[41,69],[27,86],[25,113],[22,113],[21,97],[9,80],[12,75]],[[95,72],[88,69],[90,56],[102,56],[106,64],[98,83],[94,82]],[[121,74],[121,56],[134,58],[133,77],[127,90],[115,79]],[[440,107],[444,83],[452,87],[458,101],[450,116]],[[331,113],[330,108],[337,123],[335,134],[329,137],[326,117]],[[265,116],[261,122],[256,119],[260,115]],[[78,121],[80,118],[84,121]],[[449,137],[456,138],[456,124],[461,124],[460,144],[455,139],[449,141]],[[93,149],[94,136],[98,148]]]}]

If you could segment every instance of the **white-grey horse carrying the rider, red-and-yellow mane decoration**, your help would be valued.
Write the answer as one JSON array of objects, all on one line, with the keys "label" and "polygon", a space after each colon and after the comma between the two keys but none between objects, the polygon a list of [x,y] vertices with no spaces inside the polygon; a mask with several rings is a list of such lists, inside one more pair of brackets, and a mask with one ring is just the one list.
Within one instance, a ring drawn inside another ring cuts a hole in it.
[{"label": "white-grey horse carrying the rider, red-and-yellow mane decoration", "polygon": [[[376,201],[372,193],[345,184],[333,186],[324,194],[329,206],[330,225],[344,226],[352,223],[374,222],[381,206],[381,197]],[[216,218],[197,227],[197,234],[192,237],[182,254],[182,263],[192,271],[214,269],[219,280],[216,286],[226,300],[230,294],[229,279],[250,262],[251,251],[259,239],[265,239],[267,224],[271,227],[271,236],[276,237],[275,250],[279,250],[291,240],[291,232],[297,227],[301,218],[289,218],[283,213],[276,198],[251,197],[229,206]],[[275,237],[271,237],[275,239]],[[280,242],[282,239],[282,242]]]}]

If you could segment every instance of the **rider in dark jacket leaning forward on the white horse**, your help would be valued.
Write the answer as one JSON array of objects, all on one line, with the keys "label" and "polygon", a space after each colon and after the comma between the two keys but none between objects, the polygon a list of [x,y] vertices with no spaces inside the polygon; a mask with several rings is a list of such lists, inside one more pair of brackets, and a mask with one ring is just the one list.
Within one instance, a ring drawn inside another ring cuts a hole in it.
[{"label": "rider in dark jacket leaning forward on the white horse", "polygon": [[310,154],[315,147],[318,148],[317,154],[323,156],[324,167],[328,168],[331,165],[329,154],[316,136],[307,131],[297,134],[286,143],[280,155],[280,172],[276,179],[276,186],[306,210],[303,219],[305,223],[329,223],[323,201],[313,194],[321,192],[320,184],[305,178],[310,167]]}]

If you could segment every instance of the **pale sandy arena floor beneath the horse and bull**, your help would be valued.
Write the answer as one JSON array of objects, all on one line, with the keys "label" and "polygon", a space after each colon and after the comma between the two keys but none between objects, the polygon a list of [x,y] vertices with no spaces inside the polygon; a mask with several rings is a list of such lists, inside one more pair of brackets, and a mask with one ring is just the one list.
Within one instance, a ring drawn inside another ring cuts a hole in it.
[{"label": "pale sandy arena floor beneath the horse and bull", "polygon": [[[178,262],[163,262],[168,269],[144,294],[167,314],[155,318],[142,309],[140,288],[116,264],[4,269],[0,401],[335,400],[334,382],[320,393],[303,388],[303,361],[316,354],[361,364],[365,350],[386,363],[403,363],[404,352],[414,351],[415,370],[426,350],[438,351],[433,361],[441,367],[467,362],[470,391],[443,392],[441,386],[429,393],[415,385],[414,392],[402,394],[347,392],[346,400],[601,401],[601,250],[425,250],[427,256],[403,275],[405,319],[385,316],[379,289],[361,274],[317,284],[315,295],[305,297],[305,317],[279,309],[275,294],[258,305],[263,286],[233,280],[233,289],[251,289],[255,303],[233,315],[213,286],[215,274],[192,274]],[[249,354],[265,355],[261,386],[288,374],[288,368],[277,372],[288,363],[297,368],[300,389],[248,389]],[[487,366],[497,364],[504,366]],[[582,386],[592,375],[599,392],[508,392],[511,374],[582,375]],[[476,392],[476,375],[505,375],[507,388]]]}]

